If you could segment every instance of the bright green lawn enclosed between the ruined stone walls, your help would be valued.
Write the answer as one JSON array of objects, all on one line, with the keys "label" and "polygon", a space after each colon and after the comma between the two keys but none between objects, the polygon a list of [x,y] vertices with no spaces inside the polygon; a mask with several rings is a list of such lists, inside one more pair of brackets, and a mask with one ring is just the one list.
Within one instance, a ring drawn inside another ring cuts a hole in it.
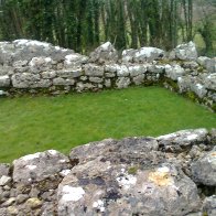
[{"label": "bright green lawn enclosed between the ruined stone walls", "polygon": [[69,153],[105,138],[201,127],[216,127],[215,114],[160,87],[0,98],[0,162],[47,149]]}]

